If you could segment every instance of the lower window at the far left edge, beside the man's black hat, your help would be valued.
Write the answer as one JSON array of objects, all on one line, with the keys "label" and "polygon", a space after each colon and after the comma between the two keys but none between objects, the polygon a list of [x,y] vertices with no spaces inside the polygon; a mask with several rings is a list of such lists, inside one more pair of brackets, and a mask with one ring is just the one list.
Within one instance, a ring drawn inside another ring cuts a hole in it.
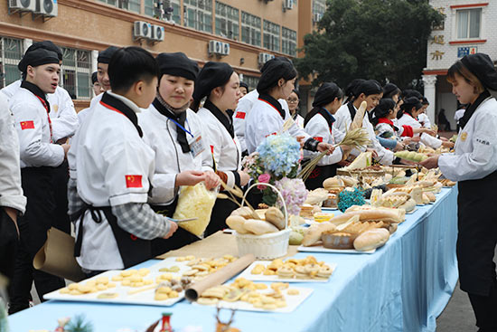
[{"label": "lower window at the far left edge, beside the man's black hat", "polygon": [[17,63],[23,58],[23,41],[0,37],[0,88],[21,79]]}]

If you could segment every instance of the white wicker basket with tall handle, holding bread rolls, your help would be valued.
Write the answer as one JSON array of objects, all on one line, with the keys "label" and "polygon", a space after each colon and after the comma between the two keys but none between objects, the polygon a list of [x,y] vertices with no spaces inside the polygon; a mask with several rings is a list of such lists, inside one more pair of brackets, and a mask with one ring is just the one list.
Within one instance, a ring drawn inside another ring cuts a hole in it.
[{"label": "white wicker basket with tall handle, holding bread rolls", "polygon": [[[242,205],[245,203],[248,191],[257,185],[259,184],[253,184],[248,187],[245,195],[243,196],[243,200],[241,202]],[[290,229],[288,229],[288,213],[286,211],[285,200],[274,185],[264,185],[273,188],[283,202],[283,209],[285,211],[285,229],[283,231],[269,232],[263,235],[239,234],[238,232],[235,232],[237,245],[239,247],[239,257],[252,253],[258,260],[273,260],[277,257],[285,256],[288,251]]]}]

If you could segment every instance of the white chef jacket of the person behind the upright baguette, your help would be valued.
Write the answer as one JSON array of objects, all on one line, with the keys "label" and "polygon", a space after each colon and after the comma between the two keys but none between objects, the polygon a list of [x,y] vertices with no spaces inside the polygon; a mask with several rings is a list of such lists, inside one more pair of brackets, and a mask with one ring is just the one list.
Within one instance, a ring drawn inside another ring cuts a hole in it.
[{"label": "white chef jacket of the person behind the upright baguette", "polygon": [[[355,106],[354,106],[355,108]],[[357,109],[355,109],[357,111]],[[370,147],[374,148],[378,153],[378,159],[380,160],[381,165],[391,165],[393,163],[393,159],[395,156],[393,152],[381,146],[380,141],[376,138],[376,133],[374,132],[374,128],[370,123],[370,118],[367,114],[364,114],[364,118],[362,119],[362,128],[365,128],[368,132],[368,136],[370,138]],[[337,128],[343,133],[347,132],[352,124],[351,112],[349,111],[349,107],[347,104],[343,104],[340,109],[338,109],[334,115],[336,121],[333,123],[333,130]]]}]

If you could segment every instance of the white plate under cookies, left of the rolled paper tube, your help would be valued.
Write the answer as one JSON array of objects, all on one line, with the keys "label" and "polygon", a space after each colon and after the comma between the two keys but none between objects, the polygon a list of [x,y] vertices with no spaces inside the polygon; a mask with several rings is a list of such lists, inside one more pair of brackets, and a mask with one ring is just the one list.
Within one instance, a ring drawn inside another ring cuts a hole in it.
[{"label": "white plate under cookies, left of the rolled paper tube", "polygon": [[[187,263],[188,263],[188,261],[176,261],[176,257],[169,257],[169,258],[165,259],[164,261],[159,261],[156,264],[149,267],[148,270],[150,270],[150,272],[144,277],[144,279],[152,279],[152,280],[154,280],[154,284],[155,284],[155,278],[163,273],[166,273],[165,271],[159,271],[159,270],[161,268],[166,268],[166,267],[170,268],[174,265],[176,265],[180,268],[179,272],[169,272],[169,273],[173,274],[173,278],[179,279],[179,278],[181,278],[182,273],[184,271],[190,270],[190,267],[186,265]],[[144,290],[144,291],[136,293],[136,294],[129,294],[128,292],[130,290],[145,289],[147,286],[135,288],[135,287],[122,286],[120,282],[112,281],[112,277],[114,277],[120,273],[121,273],[121,270],[108,270],[106,272],[98,274],[95,277],[89,278],[88,280],[80,281],[80,283],[86,284],[86,282],[89,280],[96,280],[99,277],[108,277],[108,280],[110,282],[116,283],[116,287],[112,288],[112,289],[99,290],[95,293],[81,294],[81,295],[61,294],[60,290],[55,290],[55,291],[52,291],[51,293],[45,294],[44,298],[45,299],[58,299],[58,300],[63,300],[63,301],[127,303],[127,304],[142,304],[142,305],[164,306],[164,307],[172,306],[174,303],[176,303],[179,300],[184,298],[184,291],[182,291],[181,293],[179,293],[178,298],[166,299],[163,301],[155,300],[154,299],[155,288],[154,289],[147,289],[147,290]],[[115,298],[115,299],[98,299],[98,295],[101,293],[117,293],[118,295],[117,295],[117,298]]]}]

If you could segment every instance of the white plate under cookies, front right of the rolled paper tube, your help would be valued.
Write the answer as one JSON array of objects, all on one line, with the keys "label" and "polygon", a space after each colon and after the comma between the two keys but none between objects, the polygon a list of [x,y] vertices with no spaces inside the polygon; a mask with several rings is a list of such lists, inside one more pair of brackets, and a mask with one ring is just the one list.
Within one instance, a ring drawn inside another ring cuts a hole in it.
[{"label": "white plate under cookies, front right of the rolled paper tube", "polygon": [[[288,289],[297,289],[299,291],[298,295],[287,295],[286,291]],[[230,308],[230,309],[237,309],[237,310],[242,310],[242,311],[259,311],[259,312],[281,312],[281,313],[288,313],[292,312],[300,306],[302,302],[304,302],[305,299],[307,299],[314,291],[314,289],[305,289],[305,288],[300,288],[300,287],[289,287],[288,289],[284,289],[283,293],[285,294],[285,299],[286,299],[286,307],[284,308],[276,308],[274,310],[267,310],[264,308],[254,308],[250,303],[244,302],[244,301],[236,301],[236,302],[228,302],[228,301],[219,301],[216,304],[213,304],[209,307],[218,307],[218,308]],[[273,289],[267,289],[266,292],[272,292]],[[260,291],[261,293],[264,293],[265,291]],[[195,306],[205,306],[198,304],[197,302],[193,302],[193,305]]]}]

